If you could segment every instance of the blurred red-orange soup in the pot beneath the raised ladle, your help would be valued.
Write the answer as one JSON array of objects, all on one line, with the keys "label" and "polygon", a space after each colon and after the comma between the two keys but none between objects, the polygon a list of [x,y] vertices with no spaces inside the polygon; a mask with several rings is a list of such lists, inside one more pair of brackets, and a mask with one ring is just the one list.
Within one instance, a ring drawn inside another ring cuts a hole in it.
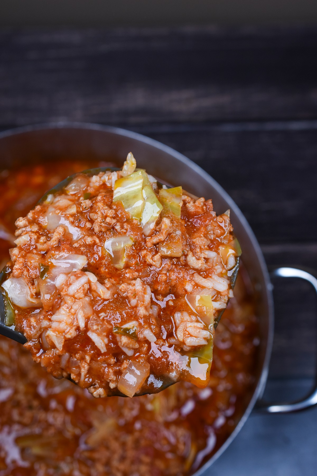
[{"label": "blurred red-orange soup in the pot beneath the raised ladle", "polygon": [[[104,165],[104,164],[101,164]],[[4,170],[0,251],[9,258],[14,222],[43,193],[90,162]],[[259,331],[243,268],[215,331],[206,388],[180,382],[156,395],[95,399],[56,380],[29,351],[0,338],[0,476],[185,475],[231,434],[254,385]]]}]

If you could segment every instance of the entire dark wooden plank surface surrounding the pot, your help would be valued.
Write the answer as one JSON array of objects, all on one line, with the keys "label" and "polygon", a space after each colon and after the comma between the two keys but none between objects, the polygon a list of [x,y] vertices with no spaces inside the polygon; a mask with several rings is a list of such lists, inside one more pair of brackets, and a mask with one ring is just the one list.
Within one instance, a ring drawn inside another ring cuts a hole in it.
[{"label": "entire dark wooden plank surface surrounding the pot", "polygon": [[[0,129],[86,121],[162,141],[211,174],[268,265],[317,270],[317,28],[0,32]],[[274,282],[267,396],[315,374],[316,299]],[[251,416],[214,476],[316,475],[317,409]]]}]

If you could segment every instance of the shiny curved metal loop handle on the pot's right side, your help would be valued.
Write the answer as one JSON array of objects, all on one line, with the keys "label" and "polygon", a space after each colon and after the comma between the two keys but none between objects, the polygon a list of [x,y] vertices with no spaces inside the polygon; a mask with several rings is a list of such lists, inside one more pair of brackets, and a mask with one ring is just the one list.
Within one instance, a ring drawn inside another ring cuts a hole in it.
[{"label": "shiny curved metal loop handle on the pot's right side", "polygon": [[[271,278],[301,278],[308,281],[315,289],[317,293],[317,274],[315,271],[305,268],[276,268],[270,273]],[[270,404],[263,400],[258,400],[255,405],[255,410],[259,410],[265,413],[290,413],[304,410],[306,408],[313,407],[317,404],[317,376],[315,383],[311,391],[306,397],[296,400],[292,403],[284,404]]]}]

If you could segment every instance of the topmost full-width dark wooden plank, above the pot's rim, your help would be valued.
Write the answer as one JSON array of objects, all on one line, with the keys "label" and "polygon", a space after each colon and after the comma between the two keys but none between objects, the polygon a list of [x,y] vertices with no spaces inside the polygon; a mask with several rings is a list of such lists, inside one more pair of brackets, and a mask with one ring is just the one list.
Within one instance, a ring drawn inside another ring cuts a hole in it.
[{"label": "topmost full-width dark wooden plank, above the pot's rim", "polygon": [[315,29],[0,33],[0,125],[309,119]]}]

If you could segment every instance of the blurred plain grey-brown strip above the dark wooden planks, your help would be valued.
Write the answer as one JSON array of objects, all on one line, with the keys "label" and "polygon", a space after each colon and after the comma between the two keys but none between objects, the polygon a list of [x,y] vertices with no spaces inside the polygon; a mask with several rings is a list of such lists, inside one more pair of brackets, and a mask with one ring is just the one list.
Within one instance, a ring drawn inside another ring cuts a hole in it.
[{"label": "blurred plain grey-brown strip above the dark wooden planks", "polygon": [[179,26],[317,21],[314,0],[2,0],[0,26]]}]

